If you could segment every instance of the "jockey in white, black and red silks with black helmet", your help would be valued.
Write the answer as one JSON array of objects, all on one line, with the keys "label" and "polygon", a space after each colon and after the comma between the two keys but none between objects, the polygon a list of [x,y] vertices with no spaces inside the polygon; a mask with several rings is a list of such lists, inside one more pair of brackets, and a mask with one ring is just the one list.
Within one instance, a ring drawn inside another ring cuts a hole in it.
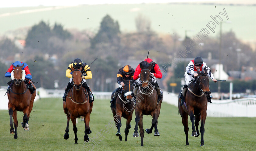
[{"label": "jockey in white, black and red silks with black helmet", "polygon": [[[189,62],[189,64],[186,67],[186,72],[184,74],[185,76],[185,85],[182,88],[181,94],[179,96],[179,98],[181,99],[181,106],[184,104],[184,100],[185,100],[185,96],[186,96],[186,92],[187,92],[187,87],[189,85],[189,82],[191,80],[194,80],[194,78],[192,77],[194,75],[194,77],[197,77],[197,70],[202,71],[204,68],[208,69],[207,70],[207,74],[209,77],[211,77],[212,81],[216,82],[217,80],[214,79],[213,74],[210,70],[209,67],[207,67],[206,63],[203,61],[203,59],[201,57],[196,57],[194,60],[191,60]],[[208,102],[211,102],[212,96],[209,96],[207,98]]]}]

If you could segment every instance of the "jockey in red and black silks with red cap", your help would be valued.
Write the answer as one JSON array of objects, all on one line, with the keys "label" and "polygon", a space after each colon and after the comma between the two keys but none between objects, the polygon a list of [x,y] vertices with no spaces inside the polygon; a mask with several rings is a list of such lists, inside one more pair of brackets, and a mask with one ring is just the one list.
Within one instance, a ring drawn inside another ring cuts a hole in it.
[{"label": "jockey in red and black silks with red cap", "polygon": [[[152,82],[154,83],[155,89],[157,91],[157,98],[158,98],[157,102],[159,102],[163,97],[163,92],[159,88],[158,82],[156,81],[155,78],[161,79],[162,78],[162,72],[161,72],[158,64],[153,62],[152,59],[148,58],[148,59],[145,59],[144,61],[147,61],[149,64],[153,65],[152,69],[150,70],[150,73],[152,75]],[[136,82],[135,88],[133,89],[132,97],[137,96],[137,91],[139,89],[139,84],[140,84],[140,72],[141,72],[141,69],[140,69],[140,64],[139,64],[137,66],[137,68],[135,69],[134,76],[133,76],[134,80],[137,80],[137,79],[138,80]]]}]

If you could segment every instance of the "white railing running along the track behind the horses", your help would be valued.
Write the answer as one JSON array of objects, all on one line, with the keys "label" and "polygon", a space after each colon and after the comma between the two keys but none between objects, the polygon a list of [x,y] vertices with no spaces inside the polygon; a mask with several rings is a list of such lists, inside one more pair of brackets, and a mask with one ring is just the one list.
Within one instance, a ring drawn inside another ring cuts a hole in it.
[{"label": "white railing running along the track behind the horses", "polygon": [[[8,109],[6,89],[0,89],[0,109]],[[111,99],[112,92],[93,92],[95,99]],[[163,101],[178,106],[178,96],[174,93],[163,92]],[[37,88],[35,101],[41,98],[62,99],[64,90]],[[211,117],[256,117],[256,98],[244,98],[234,100],[215,100],[208,103],[207,116]]]}]

